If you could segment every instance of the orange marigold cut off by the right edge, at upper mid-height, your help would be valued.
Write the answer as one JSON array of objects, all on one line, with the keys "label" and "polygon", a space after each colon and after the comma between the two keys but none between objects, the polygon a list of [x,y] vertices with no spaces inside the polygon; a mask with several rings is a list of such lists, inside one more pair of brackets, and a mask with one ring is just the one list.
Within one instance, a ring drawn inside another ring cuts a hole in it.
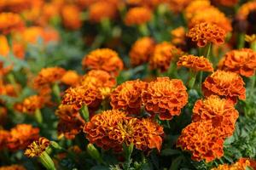
[{"label": "orange marigold cut off by the right edge, at upper mid-height", "polygon": [[236,49],[224,55],[221,69],[244,77],[252,77],[256,69],[256,53],[250,48]]}]

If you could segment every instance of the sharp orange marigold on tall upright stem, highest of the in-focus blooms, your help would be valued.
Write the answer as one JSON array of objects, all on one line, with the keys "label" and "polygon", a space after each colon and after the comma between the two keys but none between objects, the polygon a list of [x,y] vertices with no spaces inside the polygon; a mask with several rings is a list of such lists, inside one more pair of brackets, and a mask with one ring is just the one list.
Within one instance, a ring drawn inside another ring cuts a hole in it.
[{"label": "sharp orange marigold on tall upright stem, highest of the in-focus blooms", "polygon": [[221,27],[204,22],[191,28],[187,36],[199,47],[204,47],[209,42],[217,45],[224,43],[226,33]]}]

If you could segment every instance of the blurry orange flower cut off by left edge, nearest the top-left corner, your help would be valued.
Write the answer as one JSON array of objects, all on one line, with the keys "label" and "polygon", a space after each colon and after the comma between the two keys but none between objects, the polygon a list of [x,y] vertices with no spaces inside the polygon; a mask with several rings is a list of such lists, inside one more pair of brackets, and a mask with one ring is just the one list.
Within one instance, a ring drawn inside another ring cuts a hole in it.
[{"label": "blurry orange flower cut off by left edge, nearest the top-left corner", "polygon": [[19,14],[0,13],[0,33],[9,34],[11,31],[18,31],[23,27],[24,22]]}]

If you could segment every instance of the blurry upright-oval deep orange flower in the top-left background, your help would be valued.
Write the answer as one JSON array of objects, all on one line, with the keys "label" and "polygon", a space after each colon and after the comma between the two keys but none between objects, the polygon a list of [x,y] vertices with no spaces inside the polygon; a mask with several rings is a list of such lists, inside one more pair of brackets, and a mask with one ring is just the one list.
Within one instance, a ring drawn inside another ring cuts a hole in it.
[{"label": "blurry upright-oval deep orange flower in the top-left background", "polygon": [[63,25],[69,30],[78,30],[82,26],[80,9],[76,5],[65,5],[61,8]]}]

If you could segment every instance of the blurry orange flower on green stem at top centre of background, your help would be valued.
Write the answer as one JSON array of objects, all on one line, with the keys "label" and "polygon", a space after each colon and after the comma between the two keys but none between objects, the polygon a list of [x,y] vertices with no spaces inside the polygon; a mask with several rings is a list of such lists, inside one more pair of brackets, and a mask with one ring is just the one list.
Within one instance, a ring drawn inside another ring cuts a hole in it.
[{"label": "blurry orange flower on green stem at top centre of background", "polygon": [[152,11],[145,7],[130,8],[125,15],[125,25],[142,25],[151,20]]}]

